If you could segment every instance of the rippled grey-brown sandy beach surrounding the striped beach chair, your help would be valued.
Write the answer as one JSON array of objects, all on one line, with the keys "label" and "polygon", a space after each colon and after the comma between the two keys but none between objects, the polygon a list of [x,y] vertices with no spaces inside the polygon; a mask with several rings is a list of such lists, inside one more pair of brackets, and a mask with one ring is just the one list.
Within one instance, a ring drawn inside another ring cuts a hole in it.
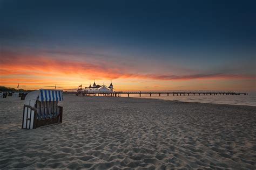
[{"label": "rippled grey-brown sandy beach surrounding the striped beach chair", "polygon": [[256,167],[256,108],[64,95],[63,123],[23,130],[23,103],[0,98],[0,169]]}]

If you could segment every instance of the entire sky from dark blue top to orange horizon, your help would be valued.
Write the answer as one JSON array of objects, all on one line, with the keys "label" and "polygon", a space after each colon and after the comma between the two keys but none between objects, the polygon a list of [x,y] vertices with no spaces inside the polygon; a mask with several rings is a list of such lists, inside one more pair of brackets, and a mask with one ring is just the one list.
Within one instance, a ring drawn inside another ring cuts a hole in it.
[{"label": "entire sky from dark blue top to orange horizon", "polygon": [[0,0],[0,86],[256,91],[256,1]]}]

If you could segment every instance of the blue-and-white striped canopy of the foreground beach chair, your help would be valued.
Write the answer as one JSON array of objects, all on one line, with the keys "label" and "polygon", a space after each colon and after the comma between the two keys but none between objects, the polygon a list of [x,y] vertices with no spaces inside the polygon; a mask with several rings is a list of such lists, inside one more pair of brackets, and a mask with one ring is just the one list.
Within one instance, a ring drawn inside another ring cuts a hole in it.
[{"label": "blue-and-white striped canopy of the foreground beach chair", "polygon": [[40,89],[39,91],[40,94],[38,100],[41,102],[63,101],[62,90]]}]

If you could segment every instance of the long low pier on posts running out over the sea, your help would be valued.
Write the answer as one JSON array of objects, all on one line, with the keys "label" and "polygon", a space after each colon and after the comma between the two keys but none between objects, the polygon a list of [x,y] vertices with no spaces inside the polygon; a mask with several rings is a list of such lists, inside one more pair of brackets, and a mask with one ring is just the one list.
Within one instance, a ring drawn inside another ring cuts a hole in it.
[{"label": "long low pier on posts running out over the sea", "polygon": [[[65,94],[65,93],[63,93]],[[70,93],[69,93],[70,94]],[[100,92],[98,93],[87,93],[86,91],[76,93],[78,96],[113,96],[113,97],[120,97],[122,94],[127,95],[127,97],[130,97],[130,94],[138,94],[140,97],[142,94],[148,94],[150,97],[152,94],[158,94],[159,96],[165,95],[165,96],[195,96],[195,95],[248,95],[248,93],[236,93],[236,92],[230,92],[230,91],[193,91],[193,92],[187,92],[187,91],[113,91],[113,92]]]}]

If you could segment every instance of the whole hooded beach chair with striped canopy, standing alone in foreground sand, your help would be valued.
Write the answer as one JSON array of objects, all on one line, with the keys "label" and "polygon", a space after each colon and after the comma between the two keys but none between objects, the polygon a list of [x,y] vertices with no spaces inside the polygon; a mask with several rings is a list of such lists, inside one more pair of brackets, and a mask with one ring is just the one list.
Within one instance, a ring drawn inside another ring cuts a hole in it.
[{"label": "whole hooded beach chair with striped canopy, standing alone in foreground sand", "polygon": [[22,129],[36,129],[40,126],[62,123],[62,90],[40,89],[25,97]]}]

